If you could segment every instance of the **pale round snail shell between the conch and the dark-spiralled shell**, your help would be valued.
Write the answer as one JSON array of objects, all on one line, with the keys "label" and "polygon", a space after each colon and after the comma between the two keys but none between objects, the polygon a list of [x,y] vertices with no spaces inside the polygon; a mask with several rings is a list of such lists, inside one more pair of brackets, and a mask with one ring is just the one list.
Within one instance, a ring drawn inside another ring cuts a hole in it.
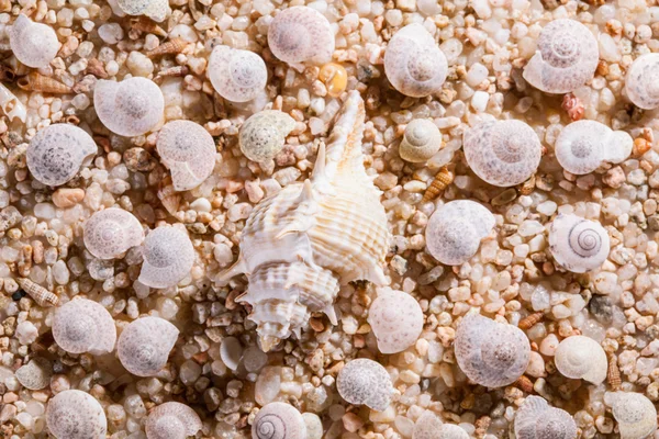
[{"label": "pale round snail shell between the conch and the dark-spiralled shell", "polygon": [[460,266],[476,255],[494,224],[494,215],[483,205],[469,200],[450,201],[431,215],[425,229],[426,248],[439,262]]}]

